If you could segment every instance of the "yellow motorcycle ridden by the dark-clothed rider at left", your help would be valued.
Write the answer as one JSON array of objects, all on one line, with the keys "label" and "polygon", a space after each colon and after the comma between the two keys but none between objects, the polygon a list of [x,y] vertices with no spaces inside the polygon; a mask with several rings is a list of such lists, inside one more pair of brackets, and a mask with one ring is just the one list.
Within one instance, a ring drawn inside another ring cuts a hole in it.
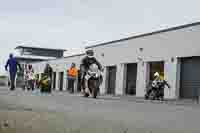
[{"label": "yellow motorcycle ridden by the dark-clothed rider at left", "polygon": [[40,92],[51,93],[51,78],[48,75],[43,75],[39,81]]}]

